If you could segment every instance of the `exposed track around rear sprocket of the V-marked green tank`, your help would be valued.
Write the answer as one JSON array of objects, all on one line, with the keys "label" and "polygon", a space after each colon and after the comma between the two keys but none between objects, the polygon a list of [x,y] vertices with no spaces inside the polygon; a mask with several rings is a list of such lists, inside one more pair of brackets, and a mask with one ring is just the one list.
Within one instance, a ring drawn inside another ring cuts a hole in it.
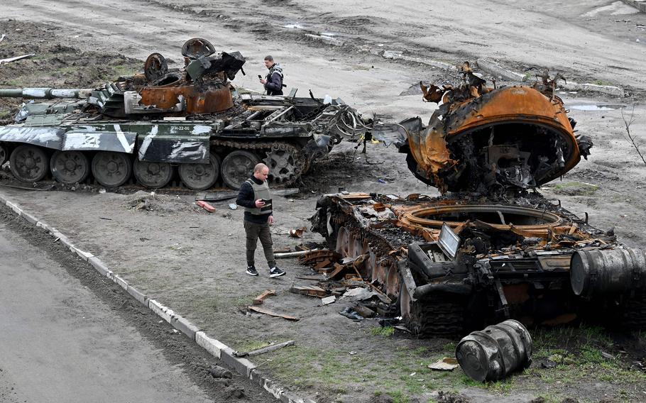
[{"label": "exposed track around rear sprocket of the V-marked green tank", "polygon": [[[234,150],[250,150],[250,151],[281,151],[281,152],[286,152],[289,155],[293,156],[293,167],[289,171],[293,171],[293,173],[285,172],[284,174],[280,174],[280,172],[274,172],[272,174],[272,164],[268,163],[270,162],[269,157],[265,155],[265,158],[261,158],[261,160],[268,165],[269,171],[270,171],[270,177],[272,178],[270,182],[272,182],[273,185],[280,185],[280,186],[289,186],[290,184],[294,184],[297,180],[300,179],[301,175],[305,172],[307,172],[308,165],[309,165],[309,160],[305,157],[305,153],[302,153],[301,150],[302,148],[297,147],[296,145],[286,143],[284,141],[272,141],[272,142],[246,142],[246,141],[233,141],[233,140],[211,140],[211,145],[215,145],[217,147],[226,147],[226,148],[232,148]],[[263,157],[263,155],[259,155],[260,157]],[[283,168],[284,169],[284,168]],[[279,176],[280,175],[280,176]]]}]

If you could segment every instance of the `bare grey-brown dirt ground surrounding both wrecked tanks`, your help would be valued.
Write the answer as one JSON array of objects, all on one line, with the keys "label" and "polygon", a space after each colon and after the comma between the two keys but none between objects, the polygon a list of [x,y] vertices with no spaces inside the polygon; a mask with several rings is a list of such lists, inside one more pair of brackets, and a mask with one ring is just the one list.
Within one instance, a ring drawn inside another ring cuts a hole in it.
[{"label": "bare grey-brown dirt ground surrounding both wrecked tanks", "polygon": [[[452,64],[491,57],[523,74],[530,67],[549,68],[576,82],[618,85],[627,97],[559,92],[578,121],[578,133],[591,136],[595,145],[588,161],[540,192],[575,214],[587,212],[598,228],[614,227],[626,244],[646,247],[646,165],[625,140],[622,117],[635,105],[630,131],[646,140],[646,14],[620,1],[420,1],[397,7],[387,1],[349,5],[327,0],[0,3],[0,35],[7,35],[0,43],[0,58],[32,53],[32,48],[37,53],[30,60],[0,66],[1,87],[92,86],[138,70],[136,60],[153,52],[179,62],[182,43],[195,36],[211,40],[218,50],[239,50],[247,57],[248,74],[236,77],[236,85],[260,89],[253,77],[263,73],[263,56],[272,54],[285,67],[289,87],[340,96],[384,121],[416,115],[426,121],[434,104],[422,103],[415,84],[420,79],[455,82],[446,70],[390,60],[383,57],[384,50]],[[11,116],[8,111],[16,103],[0,102],[2,120]],[[610,107],[587,110],[598,105]],[[412,177],[405,155],[383,145],[371,144],[368,154],[361,155],[353,144],[341,143],[303,182],[299,194],[275,197],[275,249],[322,241],[309,232],[302,239],[290,238],[288,230],[307,226],[317,197],[339,187],[437,195]],[[230,210],[229,201],[216,203],[217,212],[207,214],[195,208],[190,192],[99,190],[0,189],[224,343],[248,350],[295,340],[295,347],[261,355],[256,364],[318,402],[453,401],[440,397],[440,390],[471,402],[646,399],[646,375],[638,364],[646,359],[644,336],[626,338],[585,325],[538,331],[538,359],[530,370],[504,382],[478,385],[460,370],[437,373],[426,368],[451,355],[455,341],[384,336],[374,320],[355,323],[340,316],[338,311],[349,302],[322,307],[316,298],[288,292],[290,285],[302,282],[296,276],[310,272],[296,260],[281,261],[288,275],[277,280],[263,270],[257,278],[244,275],[242,213]],[[146,199],[147,208],[138,209]],[[257,261],[262,261],[259,252]],[[243,308],[267,288],[278,294],[267,300],[267,307],[300,321],[247,314]],[[598,358],[601,350],[616,358]],[[542,365],[554,360],[559,365]]]}]

